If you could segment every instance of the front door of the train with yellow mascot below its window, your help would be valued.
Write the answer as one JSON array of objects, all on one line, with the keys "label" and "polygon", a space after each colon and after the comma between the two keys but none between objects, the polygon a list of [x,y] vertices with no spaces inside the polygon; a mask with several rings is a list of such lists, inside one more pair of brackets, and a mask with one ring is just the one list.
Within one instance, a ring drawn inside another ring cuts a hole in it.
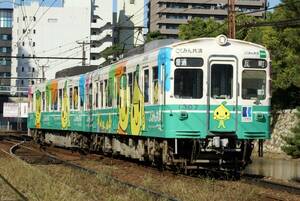
[{"label": "front door of the train with yellow mascot below its window", "polygon": [[236,59],[210,59],[208,78],[208,133],[233,133],[237,128]]}]

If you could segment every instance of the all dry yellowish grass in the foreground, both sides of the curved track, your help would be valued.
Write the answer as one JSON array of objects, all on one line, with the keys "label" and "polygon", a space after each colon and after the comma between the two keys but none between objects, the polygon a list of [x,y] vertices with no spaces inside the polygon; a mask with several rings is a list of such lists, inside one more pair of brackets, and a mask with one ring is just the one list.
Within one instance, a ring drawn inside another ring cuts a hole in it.
[{"label": "all dry yellowish grass in the foreground, both sides of the curved track", "polygon": [[[274,192],[237,181],[220,181],[208,178],[189,178],[164,173],[123,168],[116,165],[101,165],[99,161],[82,162],[106,174],[122,175],[126,180],[141,184],[154,191],[164,192],[182,201],[198,200],[264,200],[267,195],[276,195],[282,200],[297,200],[288,193]],[[124,187],[105,176],[90,175],[62,165],[31,166],[23,161],[0,154],[0,174],[25,194],[29,200],[109,200],[152,201],[155,197],[139,190]],[[3,197],[1,197],[3,196]],[[15,199],[14,192],[0,180],[0,200]]]}]

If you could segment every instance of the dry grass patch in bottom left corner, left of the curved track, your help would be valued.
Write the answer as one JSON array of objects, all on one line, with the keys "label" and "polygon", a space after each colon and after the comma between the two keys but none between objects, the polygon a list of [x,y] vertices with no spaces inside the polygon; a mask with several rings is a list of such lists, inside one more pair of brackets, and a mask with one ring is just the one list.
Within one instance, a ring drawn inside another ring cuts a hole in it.
[{"label": "dry grass patch in bottom left corner, left of the curved track", "polygon": [[[60,165],[31,166],[18,159],[0,156],[0,173],[29,200],[34,201],[157,200],[149,194],[121,186],[101,175],[89,175]],[[13,194],[1,183],[0,192],[5,197]]]}]

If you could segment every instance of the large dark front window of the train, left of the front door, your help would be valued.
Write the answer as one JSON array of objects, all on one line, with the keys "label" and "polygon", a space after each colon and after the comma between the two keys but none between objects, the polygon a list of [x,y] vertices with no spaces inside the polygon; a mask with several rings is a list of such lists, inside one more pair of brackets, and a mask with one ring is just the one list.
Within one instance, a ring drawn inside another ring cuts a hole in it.
[{"label": "large dark front window of the train, left of the front door", "polygon": [[196,99],[203,95],[203,71],[200,69],[176,69],[175,98]]}]

